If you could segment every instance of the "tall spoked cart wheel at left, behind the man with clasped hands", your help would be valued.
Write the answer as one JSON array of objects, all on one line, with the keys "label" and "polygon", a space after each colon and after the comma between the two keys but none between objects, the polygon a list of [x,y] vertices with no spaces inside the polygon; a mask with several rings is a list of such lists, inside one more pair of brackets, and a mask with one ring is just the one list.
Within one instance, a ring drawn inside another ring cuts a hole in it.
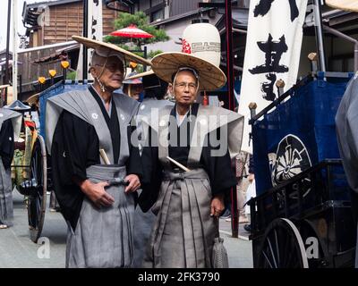
[{"label": "tall spoked cart wheel at left, behind the man with clasped hands", "polygon": [[32,185],[28,203],[30,239],[37,243],[44,225],[47,197],[47,155],[45,141],[40,135],[32,148],[30,182]]}]

